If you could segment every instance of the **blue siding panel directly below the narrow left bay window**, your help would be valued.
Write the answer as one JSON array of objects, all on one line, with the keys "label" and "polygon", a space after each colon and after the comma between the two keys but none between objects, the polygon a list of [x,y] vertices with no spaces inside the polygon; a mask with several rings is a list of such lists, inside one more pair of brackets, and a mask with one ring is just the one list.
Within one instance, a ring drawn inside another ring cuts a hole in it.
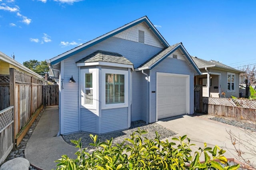
[{"label": "blue siding panel directly below the narrow left bay window", "polygon": [[96,110],[81,108],[81,131],[97,133],[97,121]]}]

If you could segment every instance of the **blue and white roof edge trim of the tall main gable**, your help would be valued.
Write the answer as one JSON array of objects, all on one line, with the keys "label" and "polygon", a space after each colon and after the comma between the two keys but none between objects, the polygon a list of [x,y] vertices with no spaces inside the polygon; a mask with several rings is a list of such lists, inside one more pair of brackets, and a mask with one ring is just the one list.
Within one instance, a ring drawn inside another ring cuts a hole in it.
[{"label": "blue and white roof edge trim of the tall main gable", "polygon": [[158,32],[158,30],[156,29],[156,27],[154,27],[154,25],[151,23],[151,21],[148,19],[147,16],[144,16],[142,18],[139,18],[138,20],[135,20],[135,21],[132,21],[122,27],[119,27],[117,29],[114,29],[113,31],[110,31],[100,37],[97,37],[96,39],[93,39],[91,41],[88,41],[87,43],[84,43],[78,47],[75,47],[74,49],[71,49],[69,51],[66,51],[65,53],[62,53],[61,55],[58,55],[50,60],[48,60],[47,62],[50,63],[51,65],[54,65],[54,64],[57,64],[59,63],[60,61],[64,60],[64,59],[67,59],[68,57],[76,54],[76,53],[79,53],[80,51],[83,51],[89,47],[92,47],[93,45],[96,45],[97,43],[100,43],[101,41],[104,41],[105,39],[108,39],[109,37],[112,37],[134,25],[137,25],[139,23],[142,23],[142,22],[145,22],[148,27],[155,33],[155,35],[158,37],[158,39],[160,41],[162,41],[162,44],[165,46],[165,47],[168,47],[169,44],[167,43],[167,41],[164,39],[164,37],[162,37],[162,35]]}]

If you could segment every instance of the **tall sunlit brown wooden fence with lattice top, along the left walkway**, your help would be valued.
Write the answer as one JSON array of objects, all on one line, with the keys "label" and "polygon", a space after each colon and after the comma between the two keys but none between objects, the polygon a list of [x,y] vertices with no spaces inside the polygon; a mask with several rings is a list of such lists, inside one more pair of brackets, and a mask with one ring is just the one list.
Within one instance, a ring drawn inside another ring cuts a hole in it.
[{"label": "tall sunlit brown wooden fence with lattice top, along the left walkway", "polygon": [[16,146],[43,108],[42,86],[47,83],[10,68],[10,106],[14,106],[14,137]]}]

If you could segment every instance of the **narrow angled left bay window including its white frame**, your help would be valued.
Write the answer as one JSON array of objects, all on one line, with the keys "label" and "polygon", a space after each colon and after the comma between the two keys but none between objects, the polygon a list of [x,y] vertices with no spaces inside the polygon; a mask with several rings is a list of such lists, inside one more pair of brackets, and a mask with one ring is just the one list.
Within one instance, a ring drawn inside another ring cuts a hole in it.
[{"label": "narrow angled left bay window including its white frame", "polygon": [[81,106],[96,109],[96,69],[81,69]]}]

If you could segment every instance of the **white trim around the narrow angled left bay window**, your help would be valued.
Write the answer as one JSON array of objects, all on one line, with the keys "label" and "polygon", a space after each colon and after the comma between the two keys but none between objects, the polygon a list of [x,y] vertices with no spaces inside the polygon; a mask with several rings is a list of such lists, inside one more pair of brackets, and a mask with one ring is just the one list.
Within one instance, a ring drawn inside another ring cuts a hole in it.
[{"label": "white trim around the narrow angled left bay window", "polygon": [[[81,86],[80,86],[80,92],[81,92],[81,108],[86,109],[96,109],[97,104],[97,91],[98,91],[98,78],[97,73],[98,69],[96,68],[90,68],[90,69],[81,69]],[[92,73],[92,104],[85,104],[85,74]]]}]

